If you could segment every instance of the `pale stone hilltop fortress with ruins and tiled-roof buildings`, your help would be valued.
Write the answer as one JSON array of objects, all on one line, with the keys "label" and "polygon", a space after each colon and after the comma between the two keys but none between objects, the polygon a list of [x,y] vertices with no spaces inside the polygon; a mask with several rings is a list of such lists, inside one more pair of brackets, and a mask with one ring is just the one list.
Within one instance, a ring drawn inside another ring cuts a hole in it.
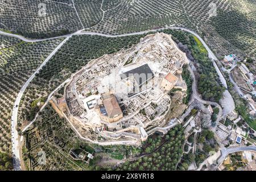
[{"label": "pale stone hilltop fortress with ruins and tiled-roof buildings", "polygon": [[172,103],[168,93],[175,89],[186,96],[181,73],[188,63],[171,35],[147,35],[130,49],[90,61],[72,75],[64,97],[55,102],[83,139],[140,144],[179,123],[166,119]]}]

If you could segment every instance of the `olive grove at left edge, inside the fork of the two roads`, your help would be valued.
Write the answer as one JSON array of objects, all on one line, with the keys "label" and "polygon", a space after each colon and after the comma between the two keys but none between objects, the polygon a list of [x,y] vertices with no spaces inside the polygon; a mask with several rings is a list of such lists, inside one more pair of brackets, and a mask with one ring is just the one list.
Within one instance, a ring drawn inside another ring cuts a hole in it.
[{"label": "olive grove at left edge, inside the fork of the two roads", "polygon": [[0,151],[10,152],[10,117],[18,91],[61,40],[40,43],[8,42],[5,37],[2,40],[10,47],[0,49]]}]

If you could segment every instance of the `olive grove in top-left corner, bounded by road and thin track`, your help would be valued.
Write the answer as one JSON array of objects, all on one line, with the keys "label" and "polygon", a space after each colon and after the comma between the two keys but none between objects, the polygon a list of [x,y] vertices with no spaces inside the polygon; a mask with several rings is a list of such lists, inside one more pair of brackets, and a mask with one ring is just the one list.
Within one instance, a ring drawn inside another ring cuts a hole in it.
[{"label": "olive grove in top-left corner, bounded by road and thin track", "polygon": [[[42,3],[46,8],[46,16],[43,15]],[[5,10],[1,12],[0,28],[15,34],[30,38],[46,38],[82,29],[72,1],[69,0],[24,0],[19,3],[5,1],[1,6],[4,6]],[[88,21],[90,22],[89,19]]]}]

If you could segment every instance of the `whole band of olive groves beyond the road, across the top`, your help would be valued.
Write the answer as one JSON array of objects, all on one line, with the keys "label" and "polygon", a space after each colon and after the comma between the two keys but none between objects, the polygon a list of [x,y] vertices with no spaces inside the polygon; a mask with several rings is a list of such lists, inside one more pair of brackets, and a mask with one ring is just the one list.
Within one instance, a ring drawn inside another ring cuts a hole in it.
[{"label": "whole band of olive groves beyond the road, across the top", "polygon": [[[72,0],[25,0],[19,3],[5,0],[3,5],[0,4],[0,28],[42,38],[75,32],[81,30],[82,25],[86,31],[112,35],[180,26],[204,36],[220,58],[236,53],[242,59],[256,59],[255,0],[73,2],[74,5]],[[38,16],[39,3],[46,4],[46,17]]]}]

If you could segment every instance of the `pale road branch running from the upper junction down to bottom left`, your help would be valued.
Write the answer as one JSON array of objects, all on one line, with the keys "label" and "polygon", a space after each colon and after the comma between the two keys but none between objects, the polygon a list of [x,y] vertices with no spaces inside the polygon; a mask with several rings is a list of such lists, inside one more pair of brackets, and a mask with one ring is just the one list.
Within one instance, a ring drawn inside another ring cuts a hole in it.
[{"label": "pale road branch running from the upper junction down to bottom left", "polygon": [[28,78],[28,80],[24,83],[24,85],[22,86],[22,89],[20,89],[18,96],[16,97],[16,100],[14,102],[13,112],[11,115],[11,140],[13,142],[12,151],[13,151],[13,156],[14,156],[14,169],[15,170],[20,169],[19,138],[18,138],[18,131],[16,130],[17,123],[18,123],[18,110],[19,110],[20,100],[21,100],[27,86],[35,78],[36,73],[39,73],[40,69],[42,69],[43,66],[46,65],[46,63],[51,59],[51,57],[53,55],[55,55],[55,53],[60,49],[61,46],[63,46],[63,44],[65,42],[67,42],[67,40],[70,37],[71,36],[68,36],[65,40],[63,40],[63,42],[61,42],[59,44],[59,46],[57,46],[54,49],[54,51],[47,57],[47,59],[44,60],[44,62],[40,65],[40,67],[38,69],[36,69],[36,71],[30,76],[30,78]]}]

